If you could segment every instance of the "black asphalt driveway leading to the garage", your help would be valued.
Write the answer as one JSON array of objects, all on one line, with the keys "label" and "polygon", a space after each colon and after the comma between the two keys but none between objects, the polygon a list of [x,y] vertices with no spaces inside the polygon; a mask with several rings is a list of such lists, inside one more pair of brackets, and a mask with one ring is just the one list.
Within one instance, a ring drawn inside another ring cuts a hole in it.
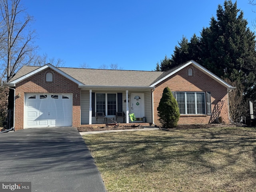
[{"label": "black asphalt driveway leading to the garage", "polygon": [[94,160],[73,127],[0,134],[0,181],[31,182],[32,192],[104,192]]}]

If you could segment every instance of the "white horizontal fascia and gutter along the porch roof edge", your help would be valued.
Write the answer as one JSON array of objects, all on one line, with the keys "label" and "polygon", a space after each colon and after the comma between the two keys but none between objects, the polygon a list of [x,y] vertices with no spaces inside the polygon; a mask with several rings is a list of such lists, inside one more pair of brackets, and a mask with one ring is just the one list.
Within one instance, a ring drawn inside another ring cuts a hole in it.
[{"label": "white horizontal fascia and gutter along the porch roof edge", "polygon": [[154,86],[111,86],[111,85],[78,85],[78,88],[86,89],[119,89],[119,90],[128,90],[128,89],[154,89]]}]

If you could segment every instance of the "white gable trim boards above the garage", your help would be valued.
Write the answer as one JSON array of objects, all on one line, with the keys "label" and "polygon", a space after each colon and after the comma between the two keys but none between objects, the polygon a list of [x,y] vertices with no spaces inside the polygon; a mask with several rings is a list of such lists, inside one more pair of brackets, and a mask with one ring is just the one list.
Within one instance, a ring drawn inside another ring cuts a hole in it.
[{"label": "white gable trim boards above the garage", "polygon": [[34,70],[34,71],[32,71],[32,72],[30,72],[30,73],[24,75],[24,76],[22,76],[22,77],[20,77],[20,78],[14,80],[14,81],[11,81],[10,83],[7,83],[7,84],[8,84],[9,86],[15,87],[15,86],[16,86],[16,83],[21,82],[22,80],[24,80],[24,79],[26,79],[26,78],[29,78],[30,76],[32,76],[32,75],[34,75],[34,74],[36,74],[36,73],[38,73],[38,72],[40,72],[40,71],[42,71],[42,70],[44,70],[44,69],[46,69],[46,68],[51,68],[52,70],[55,70],[55,71],[58,72],[59,74],[63,75],[64,77],[68,78],[69,80],[75,82],[75,83],[78,84],[78,85],[81,85],[81,84],[82,84],[82,83],[79,82],[78,80],[74,79],[74,78],[71,77],[70,75],[64,73],[62,70],[59,70],[58,68],[54,67],[54,66],[51,65],[51,64],[46,64],[46,65],[44,65],[44,66],[42,66],[42,67],[40,67],[40,68],[38,68],[38,69],[36,69],[36,70]]}]

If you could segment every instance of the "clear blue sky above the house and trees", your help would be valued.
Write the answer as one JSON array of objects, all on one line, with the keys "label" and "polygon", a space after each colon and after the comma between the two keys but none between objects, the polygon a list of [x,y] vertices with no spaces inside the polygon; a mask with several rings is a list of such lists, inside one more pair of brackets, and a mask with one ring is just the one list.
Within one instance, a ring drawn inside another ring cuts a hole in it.
[{"label": "clear blue sky above the house and trees", "polygon": [[[61,58],[64,67],[117,64],[123,70],[154,70],[188,39],[208,27],[224,0],[23,0],[34,17],[38,54]],[[234,1],[233,1],[234,2]],[[256,6],[238,0],[248,27]]]}]

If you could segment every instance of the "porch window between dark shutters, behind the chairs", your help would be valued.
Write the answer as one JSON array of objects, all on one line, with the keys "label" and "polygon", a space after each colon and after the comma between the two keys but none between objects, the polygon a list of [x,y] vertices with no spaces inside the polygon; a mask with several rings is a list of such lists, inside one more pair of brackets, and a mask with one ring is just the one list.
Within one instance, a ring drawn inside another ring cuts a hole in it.
[{"label": "porch window between dark shutters, behind the chairs", "polygon": [[116,115],[116,93],[96,93],[96,112],[104,112],[106,115]]}]

